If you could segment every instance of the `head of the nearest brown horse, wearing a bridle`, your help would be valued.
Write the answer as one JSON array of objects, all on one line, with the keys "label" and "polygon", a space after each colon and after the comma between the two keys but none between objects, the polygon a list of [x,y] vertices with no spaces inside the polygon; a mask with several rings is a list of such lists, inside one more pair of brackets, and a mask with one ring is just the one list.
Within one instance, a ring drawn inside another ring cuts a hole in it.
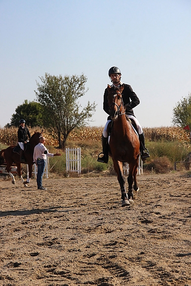
[{"label": "head of the nearest brown horse, wearing a bridle", "polygon": [[108,85],[108,106],[112,120],[117,119],[119,115],[125,114],[122,100],[122,91],[124,84],[120,88]]}]

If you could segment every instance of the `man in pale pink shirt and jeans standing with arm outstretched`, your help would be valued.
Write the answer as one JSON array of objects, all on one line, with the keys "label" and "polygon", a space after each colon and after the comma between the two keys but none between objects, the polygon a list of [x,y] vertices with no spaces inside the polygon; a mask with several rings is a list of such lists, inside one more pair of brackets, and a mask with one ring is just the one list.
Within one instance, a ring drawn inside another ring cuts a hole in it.
[{"label": "man in pale pink shirt and jeans standing with arm outstretched", "polygon": [[33,159],[34,162],[37,165],[37,187],[38,190],[46,190],[46,188],[42,187],[42,176],[44,173],[45,169],[45,164],[46,164],[46,156],[48,157],[54,157],[54,156],[61,156],[62,154],[56,153],[56,154],[51,154],[48,153],[48,150],[44,146],[45,138],[40,137],[40,143],[35,146],[34,149],[34,154],[33,154]]}]

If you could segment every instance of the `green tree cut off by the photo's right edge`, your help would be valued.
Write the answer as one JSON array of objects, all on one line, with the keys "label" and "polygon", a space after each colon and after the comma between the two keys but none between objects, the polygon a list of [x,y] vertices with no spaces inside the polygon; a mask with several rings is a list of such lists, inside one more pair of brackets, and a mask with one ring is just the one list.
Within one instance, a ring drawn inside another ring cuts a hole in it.
[{"label": "green tree cut off by the photo's right edge", "polygon": [[187,97],[184,97],[173,108],[172,122],[179,127],[185,127],[189,125],[191,129],[191,93]]}]

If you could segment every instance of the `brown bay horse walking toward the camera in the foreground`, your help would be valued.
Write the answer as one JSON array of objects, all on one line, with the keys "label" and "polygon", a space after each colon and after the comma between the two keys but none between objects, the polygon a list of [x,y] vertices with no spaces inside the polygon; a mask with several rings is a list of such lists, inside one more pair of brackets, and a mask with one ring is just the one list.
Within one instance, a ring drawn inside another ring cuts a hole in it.
[{"label": "brown bay horse walking toward the camera in the foreground", "polygon": [[[109,155],[114,162],[114,169],[121,189],[121,206],[133,203],[133,189],[138,191],[137,167],[140,155],[139,137],[133,129],[131,123],[126,119],[124,104],[121,93],[124,89],[111,87],[108,85],[108,105],[113,126],[109,141]],[[123,176],[123,162],[129,164],[129,175],[127,178],[128,192],[125,190],[125,180]],[[134,181],[134,186],[133,186]]]}]

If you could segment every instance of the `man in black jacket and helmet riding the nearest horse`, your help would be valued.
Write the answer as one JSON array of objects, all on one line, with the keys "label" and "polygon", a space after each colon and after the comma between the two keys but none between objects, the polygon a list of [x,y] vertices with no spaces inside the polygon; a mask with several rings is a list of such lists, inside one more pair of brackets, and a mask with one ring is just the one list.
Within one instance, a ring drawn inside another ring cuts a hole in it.
[{"label": "man in black jacket and helmet riding the nearest horse", "polygon": [[[109,77],[111,79],[111,82],[113,83],[111,85],[111,87],[121,87],[121,85],[123,84],[121,82],[121,72],[120,69],[117,66],[112,66],[109,69]],[[134,115],[133,112],[133,108],[135,106],[137,106],[139,104],[139,98],[138,96],[134,93],[134,91],[132,90],[131,86],[128,84],[124,84],[124,89],[122,91],[122,100],[124,103],[124,109],[125,109],[125,113],[128,116],[129,119],[133,119],[134,122],[136,123],[137,127],[138,127],[138,135],[139,135],[139,141],[140,141],[140,153],[141,153],[141,159],[143,161],[145,161],[148,157],[150,157],[149,155],[149,151],[147,148],[145,148],[145,137],[144,137],[144,133],[143,133],[143,129],[139,123],[139,121],[137,120],[137,118]],[[108,90],[105,90],[104,93],[104,111],[110,115],[109,112],[109,108],[108,108]],[[98,156],[98,162],[102,162],[102,163],[108,163],[108,132],[107,132],[107,127],[108,124],[112,121],[111,117],[108,117],[108,121],[104,127],[103,130],[103,134],[102,134],[102,148],[103,148],[103,152],[99,154]],[[100,157],[101,155],[101,157]]]}]

